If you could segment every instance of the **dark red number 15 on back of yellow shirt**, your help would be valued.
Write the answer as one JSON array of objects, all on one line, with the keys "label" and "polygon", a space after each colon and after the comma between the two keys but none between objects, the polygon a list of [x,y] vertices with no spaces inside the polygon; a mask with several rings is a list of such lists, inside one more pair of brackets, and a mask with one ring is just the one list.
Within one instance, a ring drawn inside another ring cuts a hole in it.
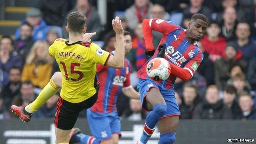
[{"label": "dark red number 15 on back of yellow shirt", "polygon": [[[66,64],[64,62],[60,62],[60,64],[62,64],[64,72],[65,72],[65,78],[66,80],[69,80],[69,75],[66,69]],[[84,74],[81,71],[75,71],[75,66],[80,66],[81,64],[79,63],[71,63],[70,64],[70,74],[78,74],[79,77],[76,79],[71,78],[71,80],[77,82],[79,80],[81,80],[84,77]]]}]

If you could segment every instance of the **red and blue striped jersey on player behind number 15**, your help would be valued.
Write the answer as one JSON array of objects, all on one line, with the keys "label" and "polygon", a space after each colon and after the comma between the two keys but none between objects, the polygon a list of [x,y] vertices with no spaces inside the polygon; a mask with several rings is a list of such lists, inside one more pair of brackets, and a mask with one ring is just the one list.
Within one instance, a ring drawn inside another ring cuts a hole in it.
[{"label": "red and blue striped jersey on player behind number 15", "polygon": [[107,66],[97,65],[97,77],[100,82],[98,100],[91,107],[91,111],[98,113],[110,113],[117,111],[117,96],[122,89],[132,87],[130,73],[132,71],[130,61],[125,59],[123,69],[114,69]]}]

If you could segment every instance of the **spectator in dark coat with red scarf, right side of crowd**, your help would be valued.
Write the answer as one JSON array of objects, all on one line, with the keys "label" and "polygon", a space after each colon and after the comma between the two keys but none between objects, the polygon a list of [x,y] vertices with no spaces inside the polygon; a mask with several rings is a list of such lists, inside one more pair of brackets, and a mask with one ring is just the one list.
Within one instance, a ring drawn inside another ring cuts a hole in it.
[{"label": "spectator in dark coat with red scarf, right side of crowd", "polygon": [[220,90],[223,90],[226,81],[229,80],[230,70],[235,65],[240,65],[242,69],[247,68],[245,60],[241,59],[242,52],[238,50],[235,43],[228,43],[225,56],[215,62],[215,83]]}]

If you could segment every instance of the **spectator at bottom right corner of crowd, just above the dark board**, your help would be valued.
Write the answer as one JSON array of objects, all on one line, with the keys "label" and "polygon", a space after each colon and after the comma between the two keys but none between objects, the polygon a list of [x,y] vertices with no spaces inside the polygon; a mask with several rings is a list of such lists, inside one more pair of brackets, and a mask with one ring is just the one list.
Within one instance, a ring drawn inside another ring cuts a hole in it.
[{"label": "spectator at bottom right corner of crowd, just above the dark board", "polygon": [[248,93],[243,93],[238,98],[238,104],[242,112],[235,116],[235,119],[251,119],[256,120],[256,107],[252,96]]}]

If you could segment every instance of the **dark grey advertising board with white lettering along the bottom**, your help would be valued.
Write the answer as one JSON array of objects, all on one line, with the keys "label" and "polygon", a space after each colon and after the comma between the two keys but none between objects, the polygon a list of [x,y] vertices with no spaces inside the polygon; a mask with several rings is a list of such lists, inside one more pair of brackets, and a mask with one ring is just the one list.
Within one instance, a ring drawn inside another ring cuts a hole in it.
[{"label": "dark grey advertising board with white lettering along the bottom", "polygon": [[[0,120],[0,144],[55,144],[54,119]],[[136,144],[144,121],[121,121],[119,144]],[[78,119],[75,127],[91,134],[86,119]],[[157,144],[156,128],[148,144]],[[227,139],[256,138],[256,121],[238,120],[180,120],[175,144],[255,144],[255,142],[227,142]]]}]

